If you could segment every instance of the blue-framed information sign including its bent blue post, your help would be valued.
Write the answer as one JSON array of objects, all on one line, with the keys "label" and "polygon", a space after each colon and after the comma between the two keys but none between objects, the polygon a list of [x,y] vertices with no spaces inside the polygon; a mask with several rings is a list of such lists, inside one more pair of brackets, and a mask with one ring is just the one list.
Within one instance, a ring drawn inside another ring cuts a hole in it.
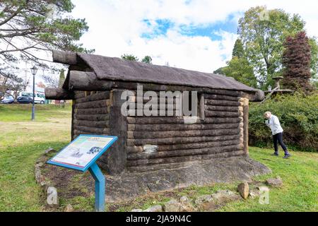
[{"label": "blue-framed information sign including its bent blue post", "polygon": [[117,136],[80,135],[69,145],[52,157],[48,164],[76,169],[81,172],[87,170],[95,179],[95,210],[105,210],[104,174],[96,164],[96,160],[117,141]]}]

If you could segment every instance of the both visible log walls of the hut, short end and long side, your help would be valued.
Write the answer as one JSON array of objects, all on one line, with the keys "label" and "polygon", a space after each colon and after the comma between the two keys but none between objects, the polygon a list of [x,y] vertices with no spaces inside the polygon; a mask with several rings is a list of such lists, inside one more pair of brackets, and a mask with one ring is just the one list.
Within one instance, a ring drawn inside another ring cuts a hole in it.
[{"label": "both visible log walls of the hut, short end and long side", "polygon": [[[204,110],[204,118],[198,117],[193,124],[185,124],[184,117],[122,117],[119,91],[116,95],[114,91],[75,91],[74,94],[73,138],[87,133],[122,138],[119,146],[112,151],[118,156],[102,156],[99,160],[99,164],[107,169],[107,172],[113,171],[113,174],[117,174],[122,172],[122,167],[129,171],[143,171],[155,169],[160,165],[178,165],[187,161],[248,153],[246,98],[233,93],[200,94],[198,109]],[[146,102],[148,101],[143,100],[143,105]],[[137,109],[137,105],[135,106]],[[172,107],[175,109],[175,101]],[[115,110],[116,115],[112,115],[111,112],[115,114]],[[119,116],[124,120],[121,129],[118,127]],[[144,145],[158,145],[158,150],[146,153],[143,150]],[[126,163],[119,161],[123,158]],[[118,162],[122,166],[114,167],[119,165]]]}]

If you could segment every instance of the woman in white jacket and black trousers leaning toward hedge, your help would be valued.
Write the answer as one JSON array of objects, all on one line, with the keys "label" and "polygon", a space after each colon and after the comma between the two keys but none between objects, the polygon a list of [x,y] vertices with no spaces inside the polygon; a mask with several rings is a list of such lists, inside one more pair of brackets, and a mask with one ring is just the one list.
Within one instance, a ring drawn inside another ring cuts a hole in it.
[{"label": "woman in white jacket and black trousers leaning toward hedge", "polygon": [[271,128],[271,133],[273,134],[273,145],[275,148],[275,152],[272,155],[278,156],[278,142],[285,152],[285,156],[283,158],[290,157],[291,155],[290,153],[288,153],[288,150],[285,144],[283,143],[283,128],[281,128],[281,124],[279,123],[278,117],[271,114],[271,112],[265,112],[264,117],[267,119],[265,121],[266,126],[269,126],[269,128]]}]

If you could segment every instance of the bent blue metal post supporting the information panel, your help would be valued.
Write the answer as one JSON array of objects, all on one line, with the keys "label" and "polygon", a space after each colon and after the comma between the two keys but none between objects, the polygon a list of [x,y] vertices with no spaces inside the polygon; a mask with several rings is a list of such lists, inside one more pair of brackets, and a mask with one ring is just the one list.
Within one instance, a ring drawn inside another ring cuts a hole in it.
[{"label": "bent blue metal post supporting the information panel", "polygon": [[103,212],[105,210],[105,176],[102,174],[102,171],[100,171],[96,162],[94,162],[88,170],[95,179],[95,210]]}]

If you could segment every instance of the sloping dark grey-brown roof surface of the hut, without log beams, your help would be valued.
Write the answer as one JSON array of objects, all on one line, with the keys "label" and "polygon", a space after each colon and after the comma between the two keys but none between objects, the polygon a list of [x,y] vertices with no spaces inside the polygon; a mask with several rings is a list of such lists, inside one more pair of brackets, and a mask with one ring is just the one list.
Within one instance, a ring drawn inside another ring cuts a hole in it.
[{"label": "sloping dark grey-brown roof surface of the hut, without log beams", "polygon": [[94,54],[78,53],[77,56],[93,69],[99,80],[257,91],[254,88],[235,81],[233,78],[214,73],[177,69],[170,66],[158,66]]}]

